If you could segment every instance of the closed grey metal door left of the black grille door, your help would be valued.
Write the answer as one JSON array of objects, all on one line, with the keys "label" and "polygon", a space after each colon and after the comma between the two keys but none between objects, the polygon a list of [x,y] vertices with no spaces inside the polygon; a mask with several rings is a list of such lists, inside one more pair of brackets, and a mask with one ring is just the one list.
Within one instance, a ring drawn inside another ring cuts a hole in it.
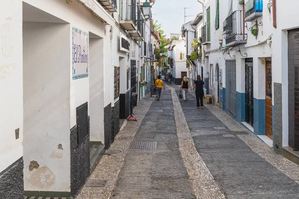
[{"label": "closed grey metal door left of the black grille door", "polygon": [[236,117],[236,60],[225,61],[226,109]]}]

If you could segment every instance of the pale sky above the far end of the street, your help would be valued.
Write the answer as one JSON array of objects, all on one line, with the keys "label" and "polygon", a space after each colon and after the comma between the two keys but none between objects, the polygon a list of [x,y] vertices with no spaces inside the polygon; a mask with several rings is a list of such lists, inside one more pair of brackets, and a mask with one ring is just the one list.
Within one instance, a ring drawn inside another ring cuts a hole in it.
[{"label": "pale sky above the far end of the street", "polygon": [[179,33],[184,24],[183,7],[191,7],[186,9],[186,15],[194,15],[186,17],[186,22],[195,18],[195,15],[202,12],[202,5],[197,0],[156,0],[151,8],[153,20],[161,23],[161,29],[169,37],[169,33]]}]

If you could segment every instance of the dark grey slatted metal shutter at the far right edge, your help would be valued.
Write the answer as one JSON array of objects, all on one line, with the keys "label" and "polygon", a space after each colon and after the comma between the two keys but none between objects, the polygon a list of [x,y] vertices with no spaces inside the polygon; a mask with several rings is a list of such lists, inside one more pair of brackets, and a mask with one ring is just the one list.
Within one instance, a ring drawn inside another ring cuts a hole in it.
[{"label": "dark grey slatted metal shutter at the far right edge", "polygon": [[299,148],[299,29],[288,34],[289,146]]}]

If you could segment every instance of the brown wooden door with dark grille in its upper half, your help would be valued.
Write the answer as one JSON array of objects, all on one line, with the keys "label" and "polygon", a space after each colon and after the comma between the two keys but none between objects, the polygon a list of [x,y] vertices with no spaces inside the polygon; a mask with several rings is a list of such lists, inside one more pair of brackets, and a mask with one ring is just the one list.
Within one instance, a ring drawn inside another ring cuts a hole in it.
[{"label": "brown wooden door with dark grille in its upper half", "polygon": [[273,139],[272,130],[272,60],[266,59],[266,135]]}]

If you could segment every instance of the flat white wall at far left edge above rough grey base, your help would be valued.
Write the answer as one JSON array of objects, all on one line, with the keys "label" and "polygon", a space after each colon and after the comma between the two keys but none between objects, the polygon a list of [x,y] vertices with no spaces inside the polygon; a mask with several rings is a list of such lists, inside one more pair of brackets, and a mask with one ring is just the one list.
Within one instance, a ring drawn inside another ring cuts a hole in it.
[{"label": "flat white wall at far left edge above rough grey base", "polygon": [[[17,10],[17,11],[16,11]],[[0,172],[23,155],[22,2],[0,6]],[[15,139],[15,129],[19,138]]]}]

